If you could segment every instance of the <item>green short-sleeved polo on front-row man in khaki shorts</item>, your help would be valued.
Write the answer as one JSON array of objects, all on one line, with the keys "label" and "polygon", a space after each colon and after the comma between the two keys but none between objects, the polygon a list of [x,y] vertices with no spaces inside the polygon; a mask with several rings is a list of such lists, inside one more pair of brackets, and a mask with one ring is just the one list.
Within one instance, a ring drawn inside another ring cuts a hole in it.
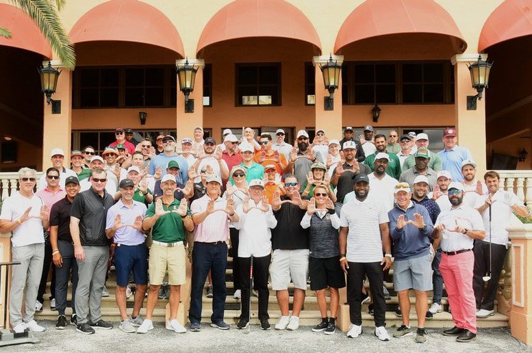
[{"label": "green short-sleeved polo on front-row man in khaki shorts", "polygon": [[[175,209],[179,209],[179,201],[174,198],[168,205],[163,202],[162,209],[164,209],[164,211],[170,211],[170,213],[166,213],[166,215],[163,215],[155,221],[151,231],[152,239],[163,243],[185,241],[186,234],[185,227],[183,226],[183,218],[181,215],[171,212]],[[148,211],[146,211],[147,218],[153,217],[153,215],[155,215],[155,202],[153,202],[148,208]],[[190,215],[190,210],[188,209],[187,215]]]}]

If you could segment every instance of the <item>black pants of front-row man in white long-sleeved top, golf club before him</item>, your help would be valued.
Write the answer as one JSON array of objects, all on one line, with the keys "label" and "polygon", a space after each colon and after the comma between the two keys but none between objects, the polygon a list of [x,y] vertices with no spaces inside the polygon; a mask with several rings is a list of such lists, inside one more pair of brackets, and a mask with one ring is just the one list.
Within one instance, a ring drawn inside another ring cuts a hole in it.
[{"label": "black pants of front-row man in white long-sleeved top, golf club before him", "polygon": [[[259,293],[259,320],[269,319],[268,315],[268,268],[272,255],[265,257],[253,257],[253,289]],[[240,319],[249,319],[249,266],[251,257],[239,257],[240,283],[242,284],[242,300]]]}]

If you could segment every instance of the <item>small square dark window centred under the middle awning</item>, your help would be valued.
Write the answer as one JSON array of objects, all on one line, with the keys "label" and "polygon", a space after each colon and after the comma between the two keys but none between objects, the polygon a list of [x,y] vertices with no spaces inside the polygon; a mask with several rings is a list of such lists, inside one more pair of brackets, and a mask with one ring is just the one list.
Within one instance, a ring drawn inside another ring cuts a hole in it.
[{"label": "small square dark window centred under the middle awning", "polygon": [[236,105],[281,105],[280,64],[236,64]]}]

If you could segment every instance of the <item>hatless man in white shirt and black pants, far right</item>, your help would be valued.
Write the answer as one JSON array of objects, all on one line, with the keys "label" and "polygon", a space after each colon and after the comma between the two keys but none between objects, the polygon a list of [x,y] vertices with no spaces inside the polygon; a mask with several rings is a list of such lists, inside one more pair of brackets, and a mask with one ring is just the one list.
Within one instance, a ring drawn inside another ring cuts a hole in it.
[{"label": "hatless man in white shirt and black pants, far right", "polygon": [[[486,237],[474,242],[474,276],[473,290],[477,302],[477,317],[494,315],[493,306],[497,293],[498,280],[505,261],[508,231],[511,213],[523,217],[529,214],[527,207],[510,190],[499,189],[499,175],[495,171],[484,174],[488,192],[477,198],[477,211],[482,215]],[[490,207],[492,208],[490,210]],[[491,215],[490,215],[491,211]],[[491,219],[490,219],[491,218]],[[491,224],[490,224],[491,223]],[[490,254],[490,241],[491,254]],[[490,259],[492,261],[490,265]],[[491,279],[484,291],[483,276],[490,274]]]}]

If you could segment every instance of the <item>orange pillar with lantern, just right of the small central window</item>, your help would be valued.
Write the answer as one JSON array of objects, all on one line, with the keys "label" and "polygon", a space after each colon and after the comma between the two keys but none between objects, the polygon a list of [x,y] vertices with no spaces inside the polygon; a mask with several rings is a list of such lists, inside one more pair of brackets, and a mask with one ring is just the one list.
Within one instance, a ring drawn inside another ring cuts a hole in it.
[{"label": "orange pillar with lantern, just right of the small central window", "polygon": [[[342,78],[340,77],[340,86],[334,92],[334,109],[325,110],[323,97],[329,96],[329,91],[325,90],[323,83],[323,75],[320,70],[320,64],[325,64],[329,60],[329,55],[321,55],[314,57],[314,73],[316,86],[316,131],[318,129],[325,130],[327,138],[342,139]],[[344,62],[343,55],[333,55],[333,60],[338,60],[338,64]]]}]

